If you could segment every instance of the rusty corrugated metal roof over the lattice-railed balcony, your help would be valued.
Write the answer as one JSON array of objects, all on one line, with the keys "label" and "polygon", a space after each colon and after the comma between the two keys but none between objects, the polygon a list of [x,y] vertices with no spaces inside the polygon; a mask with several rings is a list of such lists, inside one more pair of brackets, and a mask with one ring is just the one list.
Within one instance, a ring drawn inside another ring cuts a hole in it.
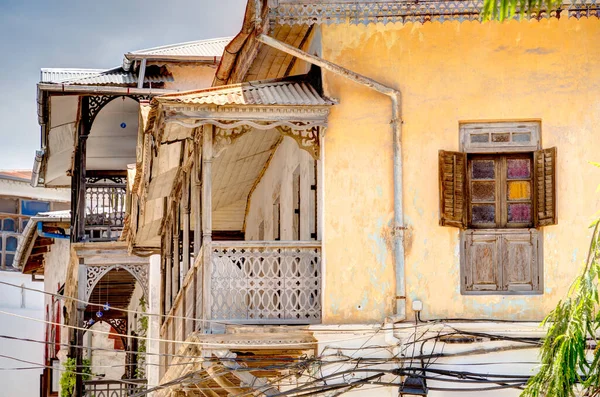
[{"label": "rusty corrugated metal roof over the lattice-railed balcony", "polygon": [[319,94],[310,83],[298,79],[242,83],[184,94],[168,94],[157,99],[165,103],[198,105],[326,106],[335,103]]}]

